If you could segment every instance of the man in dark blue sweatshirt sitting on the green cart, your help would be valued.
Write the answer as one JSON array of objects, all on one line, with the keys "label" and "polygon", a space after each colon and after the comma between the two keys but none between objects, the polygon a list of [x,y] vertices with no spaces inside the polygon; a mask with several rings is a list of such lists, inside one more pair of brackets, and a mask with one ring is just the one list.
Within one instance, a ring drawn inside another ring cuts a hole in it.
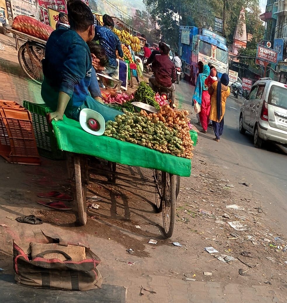
[{"label": "man in dark blue sweatshirt sitting on the green cart", "polygon": [[54,111],[48,121],[63,120],[63,115],[79,120],[81,109],[90,108],[102,114],[106,121],[122,114],[115,109],[97,102],[100,91],[91,85],[92,61],[87,42],[95,35],[94,16],[81,0],[68,2],[68,20],[71,28],[58,28],[50,35],[43,59],[44,81],[41,95],[45,103]]}]

